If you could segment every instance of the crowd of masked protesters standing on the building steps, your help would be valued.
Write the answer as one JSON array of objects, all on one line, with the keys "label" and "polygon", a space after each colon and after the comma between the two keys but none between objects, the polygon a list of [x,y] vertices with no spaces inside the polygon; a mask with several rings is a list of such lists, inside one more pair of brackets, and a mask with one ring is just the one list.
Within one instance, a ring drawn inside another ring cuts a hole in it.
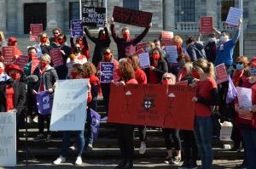
[{"label": "crowd of masked protesters standing on the building steps", "polygon": [[[201,168],[212,168],[212,127],[220,127],[219,121],[230,121],[233,123],[231,138],[234,140],[233,150],[242,146],[245,149],[244,162],[241,168],[256,168],[256,58],[249,59],[246,56],[234,57],[236,41],[241,33],[241,22],[236,27],[234,37],[230,37],[227,31],[217,31],[212,29],[212,34],[208,36],[207,42],[201,42],[195,37],[189,37],[183,43],[182,37],[175,35],[172,37],[172,45],[177,47],[177,62],[170,62],[170,55],[166,52],[166,47],[162,46],[162,39],[155,39],[148,42],[146,52],[149,54],[150,67],[142,69],[136,45],[143,40],[152,24],[148,25],[144,31],[136,38],[132,38],[129,27],[122,28],[121,36],[115,29],[113,18],[110,26],[106,26],[98,32],[97,37],[93,37],[87,27],[84,27],[84,36],[78,37],[75,42],[70,38],[71,47],[67,45],[67,36],[60,28],[53,29],[53,37],[48,37],[46,33],[38,35],[38,45],[42,54],[38,55],[38,48],[31,46],[27,49],[28,63],[24,69],[15,65],[4,65],[4,58],[1,54],[0,62],[0,111],[16,112],[18,115],[26,113],[26,121],[38,122],[38,136],[34,141],[50,141],[49,115],[38,113],[36,105],[36,95],[42,91],[50,93],[53,99],[55,86],[58,79],[90,79],[88,83],[87,100],[87,122],[85,127],[88,133],[83,131],[73,131],[77,136],[77,159],[76,165],[82,164],[82,153],[84,147],[93,149],[93,136],[90,127],[90,109],[96,110],[98,96],[104,100],[106,116],[103,121],[108,120],[108,103],[110,83],[101,83],[99,76],[102,75],[99,64],[101,62],[111,62],[115,70],[113,82],[120,84],[162,84],[175,85],[176,82],[188,82],[190,87],[196,87],[196,95],[191,100],[195,102],[195,129],[194,131],[179,130],[177,128],[163,128],[163,136],[166,144],[166,163],[178,164],[182,160],[183,164],[179,169],[197,168],[198,153],[201,157]],[[111,34],[108,32],[110,28]],[[3,46],[17,47],[17,39],[9,37],[5,42],[3,31],[0,32],[1,48]],[[111,43],[116,43],[118,55],[114,56],[109,48]],[[87,37],[95,43],[95,48],[90,59],[90,48]],[[200,36],[201,37],[201,36]],[[185,46],[185,48],[183,48]],[[50,50],[61,49],[63,65],[54,67],[51,62]],[[19,50],[20,51],[20,50]],[[39,64],[32,71],[32,59],[38,57]],[[233,60],[233,58],[236,58]],[[251,109],[239,106],[238,99],[227,103],[226,98],[229,91],[229,82],[218,84],[215,78],[214,66],[224,64],[227,73],[230,75],[235,87],[247,87],[252,89]],[[37,82],[26,82],[26,77],[35,75]],[[27,93],[25,93],[25,83]],[[26,109],[27,108],[27,109]],[[215,113],[214,113],[215,112]],[[218,113],[216,113],[218,112]],[[85,113],[85,112],[84,112]],[[47,130],[44,131],[44,121],[47,121]],[[19,125],[17,125],[19,127]],[[134,128],[139,129],[141,146],[140,154],[144,154],[147,149],[147,127],[134,126],[129,124],[116,124],[119,149],[122,161],[116,169],[129,169],[133,167],[134,154]],[[217,135],[218,133],[213,135]],[[53,162],[55,165],[66,161],[67,149],[72,144],[69,142],[72,132],[63,132],[61,155]],[[85,135],[85,136],[84,136]],[[181,138],[182,137],[182,138]],[[85,139],[84,139],[85,138]],[[181,144],[183,139],[183,144]],[[183,151],[182,151],[183,149]],[[174,151],[173,151],[174,150]]]}]

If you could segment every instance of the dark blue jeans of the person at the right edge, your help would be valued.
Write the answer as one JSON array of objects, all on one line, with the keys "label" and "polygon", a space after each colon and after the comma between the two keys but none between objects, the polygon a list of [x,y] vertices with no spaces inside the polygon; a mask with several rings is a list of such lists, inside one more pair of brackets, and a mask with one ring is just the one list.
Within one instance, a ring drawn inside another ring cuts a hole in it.
[{"label": "dark blue jeans of the person at the right edge", "polygon": [[247,169],[256,168],[256,129],[241,129]]}]

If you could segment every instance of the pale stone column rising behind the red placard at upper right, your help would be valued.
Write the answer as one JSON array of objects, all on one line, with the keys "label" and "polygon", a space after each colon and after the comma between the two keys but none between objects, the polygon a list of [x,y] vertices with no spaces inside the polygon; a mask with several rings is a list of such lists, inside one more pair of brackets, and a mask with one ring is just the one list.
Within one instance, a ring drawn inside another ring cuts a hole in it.
[{"label": "pale stone column rising behind the red placard at upper right", "polygon": [[218,5],[217,0],[207,0],[206,2],[206,14],[207,16],[212,16],[212,22],[213,26],[217,26],[218,18],[217,18],[217,12],[218,11]]}]

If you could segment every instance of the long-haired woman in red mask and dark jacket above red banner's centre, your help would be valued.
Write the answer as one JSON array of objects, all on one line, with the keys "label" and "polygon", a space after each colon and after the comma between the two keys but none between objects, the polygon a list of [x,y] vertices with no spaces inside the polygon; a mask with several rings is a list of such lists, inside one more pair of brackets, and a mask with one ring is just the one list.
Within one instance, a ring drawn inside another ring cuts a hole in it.
[{"label": "long-haired woman in red mask and dark jacket above red banner's centre", "polygon": [[156,47],[149,56],[150,67],[145,70],[148,83],[158,84],[161,82],[162,76],[168,72],[166,60],[163,58],[161,49]]}]

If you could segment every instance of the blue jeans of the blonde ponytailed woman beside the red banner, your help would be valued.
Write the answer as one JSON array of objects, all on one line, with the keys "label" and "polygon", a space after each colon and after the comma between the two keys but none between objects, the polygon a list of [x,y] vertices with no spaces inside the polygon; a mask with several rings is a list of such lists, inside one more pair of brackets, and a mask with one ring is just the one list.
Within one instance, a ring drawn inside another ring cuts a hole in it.
[{"label": "blue jeans of the blonde ponytailed woman beside the red banner", "polygon": [[212,117],[195,116],[195,142],[201,155],[201,168],[212,168]]}]

